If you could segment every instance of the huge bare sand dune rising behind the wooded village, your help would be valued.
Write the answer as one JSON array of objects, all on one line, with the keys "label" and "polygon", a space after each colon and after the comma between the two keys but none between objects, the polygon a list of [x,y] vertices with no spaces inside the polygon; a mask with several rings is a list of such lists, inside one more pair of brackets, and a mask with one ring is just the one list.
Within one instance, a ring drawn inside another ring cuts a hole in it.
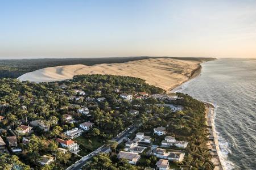
[{"label": "huge bare sand dune rising behind the wooded village", "polygon": [[69,65],[48,67],[19,76],[19,80],[52,82],[70,79],[78,74],[127,75],[147,80],[149,84],[169,90],[188,80],[198,61],[184,61],[171,58],[141,59],[126,63],[100,64],[93,66]]}]

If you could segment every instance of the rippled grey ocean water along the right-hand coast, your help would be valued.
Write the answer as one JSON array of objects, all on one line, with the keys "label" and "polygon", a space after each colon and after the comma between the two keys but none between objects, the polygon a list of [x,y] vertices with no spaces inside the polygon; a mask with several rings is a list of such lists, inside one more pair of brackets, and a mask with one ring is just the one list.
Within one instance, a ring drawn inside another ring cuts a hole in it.
[{"label": "rippled grey ocean water along the right-hand coast", "polygon": [[218,59],[201,66],[200,76],[174,91],[215,105],[226,169],[256,169],[256,59]]}]

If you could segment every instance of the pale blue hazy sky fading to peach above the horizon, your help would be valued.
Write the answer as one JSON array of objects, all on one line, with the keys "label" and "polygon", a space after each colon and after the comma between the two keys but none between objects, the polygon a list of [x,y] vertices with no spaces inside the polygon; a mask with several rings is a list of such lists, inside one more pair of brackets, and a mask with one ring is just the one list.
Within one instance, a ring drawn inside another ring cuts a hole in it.
[{"label": "pale blue hazy sky fading to peach above the horizon", "polygon": [[2,1],[0,58],[256,58],[256,1]]}]

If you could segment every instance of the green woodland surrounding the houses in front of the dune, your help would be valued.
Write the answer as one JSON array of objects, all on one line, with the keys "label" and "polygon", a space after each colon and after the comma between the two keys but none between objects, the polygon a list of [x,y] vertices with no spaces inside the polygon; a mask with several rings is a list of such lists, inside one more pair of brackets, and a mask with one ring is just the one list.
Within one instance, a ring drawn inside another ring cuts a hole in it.
[{"label": "green woodland surrounding the houses in front of the dune", "polygon": [[[64,85],[65,87],[61,87]],[[119,90],[118,92],[116,90]],[[97,99],[105,97],[105,101],[76,101],[72,96],[80,97],[74,90],[85,92],[84,97]],[[63,138],[63,131],[77,127],[81,122],[94,122],[95,126],[82,134],[81,153],[89,154],[98,146],[108,143],[120,131],[131,124],[142,124],[139,130],[152,134],[152,129],[157,126],[166,126],[167,133],[180,140],[189,141],[185,160],[179,165],[192,165],[194,169],[213,169],[210,163],[209,151],[205,148],[207,132],[205,127],[205,107],[200,101],[183,94],[177,94],[180,99],[174,101],[156,100],[152,97],[146,99],[122,100],[119,94],[133,94],[147,92],[148,94],[163,94],[161,88],[150,86],[143,79],[129,76],[113,75],[77,75],[73,79],[63,82],[32,83],[20,82],[16,79],[0,79],[0,116],[6,117],[0,122],[2,128],[1,137],[6,140],[10,130],[14,131],[20,124],[28,125],[33,120],[44,120],[51,126],[51,130],[43,131],[34,128],[30,134],[30,143],[22,145],[22,135],[18,136],[19,147],[22,152],[9,159],[9,155],[0,154],[0,166],[11,169],[9,163],[18,164],[22,169],[28,169],[28,165],[35,169],[65,169],[79,156],[68,153],[63,154],[57,150],[58,143],[55,138]],[[170,108],[159,107],[156,104],[179,104],[183,111],[172,112]],[[26,106],[26,109],[22,109]],[[86,106],[90,109],[90,116],[79,114],[77,109]],[[137,109],[139,115],[133,117],[130,109]],[[151,112],[147,112],[151,111]],[[77,122],[67,124],[63,114],[69,114]],[[57,124],[56,124],[57,122]],[[155,139],[157,144],[160,139]],[[87,143],[86,145],[84,143]],[[94,145],[97,143],[98,145]],[[122,150],[122,145],[110,143],[112,153],[94,156],[88,163],[87,169],[141,169],[154,165],[154,156],[144,158],[147,162],[141,162],[138,166],[127,164],[125,160],[118,160],[116,153]],[[55,163],[42,167],[37,163],[40,155],[54,155]],[[18,157],[17,157],[18,156]],[[1,169],[1,167],[0,167]]]}]

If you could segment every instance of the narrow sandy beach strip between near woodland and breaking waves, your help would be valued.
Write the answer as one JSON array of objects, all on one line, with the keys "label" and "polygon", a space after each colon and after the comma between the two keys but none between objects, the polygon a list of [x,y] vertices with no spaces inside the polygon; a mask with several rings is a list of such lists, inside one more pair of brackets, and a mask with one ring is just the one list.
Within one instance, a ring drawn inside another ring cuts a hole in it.
[{"label": "narrow sandy beach strip between near woodland and breaking waves", "polygon": [[215,166],[215,170],[225,170],[222,160],[220,158],[220,146],[218,145],[218,137],[214,126],[214,106],[210,103],[205,103],[206,105],[206,125],[209,131],[209,140],[207,142],[207,148],[210,150],[212,155],[211,162]]}]

